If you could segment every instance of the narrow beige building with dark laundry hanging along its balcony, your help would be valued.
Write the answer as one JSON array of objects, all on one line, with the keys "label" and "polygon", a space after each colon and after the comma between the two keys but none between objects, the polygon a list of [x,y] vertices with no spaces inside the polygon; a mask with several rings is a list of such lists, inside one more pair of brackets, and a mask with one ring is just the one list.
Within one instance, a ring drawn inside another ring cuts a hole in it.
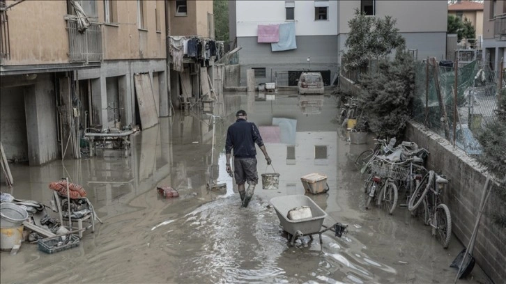
[{"label": "narrow beige building with dark laundry hanging along its balcony", "polygon": [[174,107],[187,109],[204,96],[213,95],[211,90],[214,95],[218,93],[217,86],[209,82],[215,77],[214,62],[222,56],[224,47],[223,42],[215,40],[213,1],[171,0],[168,3],[172,103]]}]

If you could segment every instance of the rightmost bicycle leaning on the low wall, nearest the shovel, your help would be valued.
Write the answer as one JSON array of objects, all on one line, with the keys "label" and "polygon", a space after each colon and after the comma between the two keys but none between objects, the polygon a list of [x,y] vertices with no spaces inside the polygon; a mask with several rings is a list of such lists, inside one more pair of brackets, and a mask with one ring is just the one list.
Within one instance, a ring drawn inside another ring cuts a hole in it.
[{"label": "rightmost bicycle leaning on the low wall, nearest the shovel", "polygon": [[[447,205],[441,203],[440,194],[448,184],[444,175],[437,175],[434,171],[429,171],[418,185],[413,196],[408,203],[408,210],[416,211],[418,216],[422,217],[424,225],[432,227],[432,235],[438,239],[443,248],[447,248],[452,237],[452,216]],[[423,190],[423,191],[422,191]],[[428,192],[432,194],[427,195]]]}]

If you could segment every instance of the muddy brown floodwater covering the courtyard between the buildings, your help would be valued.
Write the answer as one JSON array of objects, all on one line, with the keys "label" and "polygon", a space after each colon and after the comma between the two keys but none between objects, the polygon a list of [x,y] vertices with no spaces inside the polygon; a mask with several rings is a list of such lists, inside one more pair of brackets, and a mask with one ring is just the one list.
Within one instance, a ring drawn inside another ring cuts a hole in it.
[{"label": "muddy brown floodwater covering the courtyard between the buildings", "polygon": [[[86,189],[103,223],[84,232],[77,248],[46,254],[24,242],[17,255],[0,253],[1,283],[453,283],[449,265],[463,248],[454,236],[445,250],[406,207],[392,216],[365,210],[364,177],[350,157],[371,145],[346,141],[335,97],[225,99],[215,106],[214,148],[211,116],[177,112],[132,136],[128,157],[105,150],[40,167],[10,164],[15,186],[1,180],[2,192],[49,205],[49,182],[68,177]],[[279,173],[277,189],[262,189],[260,178],[247,208],[225,171],[225,134],[238,109],[259,126],[273,159],[268,167],[257,150],[259,175]],[[300,177],[309,173],[327,175],[330,190],[305,194]],[[226,192],[209,191],[211,180],[226,183]],[[179,197],[162,198],[156,187],[173,187]],[[289,246],[269,200],[292,194],[312,198],[328,214],[325,225],[345,223],[348,232],[323,233],[321,246],[318,235]],[[459,283],[489,281],[475,267]]]}]

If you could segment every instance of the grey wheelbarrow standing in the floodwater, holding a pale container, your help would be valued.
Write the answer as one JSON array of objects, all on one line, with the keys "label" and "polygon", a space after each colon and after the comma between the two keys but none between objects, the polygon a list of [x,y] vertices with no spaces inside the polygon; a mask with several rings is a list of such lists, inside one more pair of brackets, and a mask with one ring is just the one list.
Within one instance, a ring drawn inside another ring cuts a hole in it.
[{"label": "grey wheelbarrow standing in the floodwater, holding a pale container", "polygon": [[[327,213],[314,203],[314,201],[304,195],[278,196],[270,200],[273,205],[281,227],[287,233],[289,244],[293,246],[296,239],[303,236],[309,236],[313,240],[313,235],[319,235],[320,246],[323,244],[321,234],[328,230],[335,232],[336,237],[342,237],[348,226],[342,223],[334,223],[332,226],[323,225]],[[289,211],[297,207],[307,206],[311,209],[312,217],[298,220],[288,218]]]}]

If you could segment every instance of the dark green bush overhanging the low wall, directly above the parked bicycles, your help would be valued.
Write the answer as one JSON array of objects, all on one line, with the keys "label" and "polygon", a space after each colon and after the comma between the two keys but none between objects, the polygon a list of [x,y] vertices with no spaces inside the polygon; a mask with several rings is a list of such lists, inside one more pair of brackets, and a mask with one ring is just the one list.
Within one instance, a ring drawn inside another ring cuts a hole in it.
[{"label": "dark green bush overhanging the low wall, directly above the parked bicycles", "polygon": [[415,92],[415,61],[397,48],[394,60],[381,58],[374,72],[362,76],[359,102],[369,129],[383,138],[404,135]]}]

